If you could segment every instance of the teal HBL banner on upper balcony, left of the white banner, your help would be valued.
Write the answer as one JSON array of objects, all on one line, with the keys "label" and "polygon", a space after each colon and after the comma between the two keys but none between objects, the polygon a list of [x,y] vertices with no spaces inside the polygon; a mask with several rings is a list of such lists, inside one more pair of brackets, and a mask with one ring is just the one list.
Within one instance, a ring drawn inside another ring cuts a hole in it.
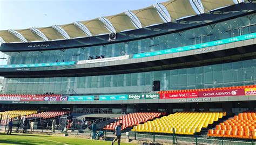
[{"label": "teal HBL banner on upper balcony, left of the white banner", "polygon": [[34,63],[34,64],[10,64],[0,65],[0,68],[31,68],[31,67],[51,67],[51,66],[66,66],[75,64],[75,61],[52,62],[52,63]]}]

